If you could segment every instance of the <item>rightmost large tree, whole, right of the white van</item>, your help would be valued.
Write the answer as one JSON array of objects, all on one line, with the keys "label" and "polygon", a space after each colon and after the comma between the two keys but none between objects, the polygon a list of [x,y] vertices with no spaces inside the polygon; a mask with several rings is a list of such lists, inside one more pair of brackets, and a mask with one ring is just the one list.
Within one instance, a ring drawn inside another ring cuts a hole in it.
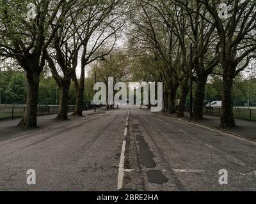
[{"label": "rightmost large tree, whole, right of the white van", "polygon": [[256,56],[255,29],[256,10],[255,1],[228,1],[231,10],[227,18],[221,19],[217,10],[221,1],[208,0],[204,3],[216,25],[220,40],[220,64],[223,69],[223,96],[221,108],[221,128],[236,126],[232,105],[232,86],[234,78],[243,71],[250,60]]}]

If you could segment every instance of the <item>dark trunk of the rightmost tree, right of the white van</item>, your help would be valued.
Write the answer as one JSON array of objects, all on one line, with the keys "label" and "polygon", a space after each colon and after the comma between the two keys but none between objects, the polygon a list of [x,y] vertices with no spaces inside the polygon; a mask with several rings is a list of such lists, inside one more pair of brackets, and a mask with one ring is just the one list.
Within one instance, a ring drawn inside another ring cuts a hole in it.
[{"label": "dark trunk of the rightmost tree, right of the white van", "polygon": [[232,85],[233,78],[223,74],[222,84],[222,108],[221,108],[221,128],[233,128],[236,126],[236,121],[233,115],[232,105]]}]

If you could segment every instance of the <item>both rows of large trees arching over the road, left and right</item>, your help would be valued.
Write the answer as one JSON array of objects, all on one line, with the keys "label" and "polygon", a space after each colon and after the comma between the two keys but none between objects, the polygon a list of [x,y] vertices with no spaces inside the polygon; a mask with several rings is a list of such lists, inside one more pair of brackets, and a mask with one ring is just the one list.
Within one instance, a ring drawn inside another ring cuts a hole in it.
[{"label": "both rows of large trees arching over the road, left and right", "polygon": [[[195,119],[203,118],[207,80],[218,75],[221,127],[236,125],[234,79],[256,58],[255,1],[228,0],[227,8],[220,10],[219,0],[41,0],[35,1],[36,15],[30,20],[28,3],[0,0],[1,61],[18,64],[28,82],[20,126],[36,127],[40,76],[48,69],[61,91],[57,119],[67,119],[71,84],[76,91],[74,115],[82,115],[88,64],[92,82],[95,71],[102,82],[108,77],[115,82],[131,78],[129,72],[138,81],[163,82],[164,106],[170,113],[177,112],[179,92],[179,117],[184,116],[189,80],[193,80]],[[109,55],[124,33],[126,54]]]}]

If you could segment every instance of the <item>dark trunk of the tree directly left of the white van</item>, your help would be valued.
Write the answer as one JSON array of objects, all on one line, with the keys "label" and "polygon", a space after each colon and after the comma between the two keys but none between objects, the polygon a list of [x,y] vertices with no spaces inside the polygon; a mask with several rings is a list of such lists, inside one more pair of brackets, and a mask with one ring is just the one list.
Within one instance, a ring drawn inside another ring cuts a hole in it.
[{"label": "dark trunk of the tree directly left of the white van", "polygon": [[204,119],[204,96],[205,96],[205,83],[207,77],[199,76],[196,80],[196,91],[193,107],[193,118],[196,120]]}]

